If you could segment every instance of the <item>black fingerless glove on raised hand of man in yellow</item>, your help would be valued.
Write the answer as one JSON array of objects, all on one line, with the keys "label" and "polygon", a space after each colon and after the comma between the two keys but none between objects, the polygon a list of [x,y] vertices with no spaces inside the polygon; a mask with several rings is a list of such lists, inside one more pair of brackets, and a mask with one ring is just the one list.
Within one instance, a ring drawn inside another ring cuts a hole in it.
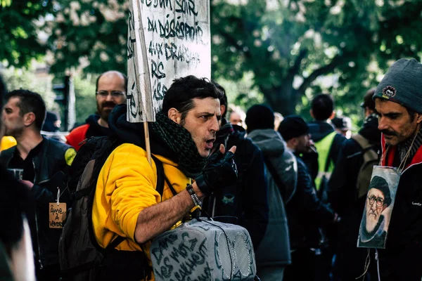
[{"label": "black fingerless glove on raised hand of man in yellow", "polygon": [[233,152],[222,154],[219,150],[208,157],[202,174],[196,178],[196,185],[204,195],[236,183],[238,172],[233,157]]}]

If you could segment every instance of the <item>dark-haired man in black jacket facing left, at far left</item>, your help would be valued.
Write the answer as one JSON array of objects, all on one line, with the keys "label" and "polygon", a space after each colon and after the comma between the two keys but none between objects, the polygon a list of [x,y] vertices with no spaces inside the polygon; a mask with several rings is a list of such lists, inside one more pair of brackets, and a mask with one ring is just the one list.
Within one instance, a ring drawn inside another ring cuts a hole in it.
[{"label": "dark-haired man in black jacket facing left, at far left", "polygon": [[13,171],[22,171],[21,182],[30,189],[35,205],[28,214],[28,221],[37,279],[56,281],[60,276],[58,240],[61,228],[52,228],[49,210],[50,204],[58,201],[60,189],[60,202],[70,203],[63,173],[72,164],[76,151],[65,143],[41,136],[46,106],[39,93],[15,90],[8,92],[5,100],[4,128],[6,134],[16,139],[17,145],[1,152],[0,164]]}]

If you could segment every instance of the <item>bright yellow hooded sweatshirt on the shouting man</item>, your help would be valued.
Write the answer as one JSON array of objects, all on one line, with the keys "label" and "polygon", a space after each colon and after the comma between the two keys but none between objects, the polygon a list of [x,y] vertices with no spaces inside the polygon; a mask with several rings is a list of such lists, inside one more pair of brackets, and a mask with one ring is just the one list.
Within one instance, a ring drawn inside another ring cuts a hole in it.
[{"label": "bright yellow hooded sweatshirt on the shouting man", "polygon": [[[185,176],[176,163],[160,155],[155,157],[162,162],[164,173],[176,192],[191,183],[191,178]],[[152,166],[148,163],[143,148],[124,143],[110,154],[98,176],[92,207],[94,234],[101,247],[106,248],[120,235],[129,239],[116,249],[141,251],[134,239],[139,212],[173,196],[167,183],[162,198],[156,186],[157,168],[154,162]],[[150,246],[151,242],[145,244],[148,259]]]}]

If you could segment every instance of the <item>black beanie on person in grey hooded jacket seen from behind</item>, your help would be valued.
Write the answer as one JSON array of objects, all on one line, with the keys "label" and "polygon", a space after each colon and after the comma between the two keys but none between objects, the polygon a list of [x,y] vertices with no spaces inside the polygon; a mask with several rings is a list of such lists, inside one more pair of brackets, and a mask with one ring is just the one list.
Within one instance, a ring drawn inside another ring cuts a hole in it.
[{"label": "black beanie on person in grey hooded jacket seen from behind", "polygon": [[246,112],[248,132],[256,129],[274,129],[274,112],[267,105],[253,105]]}]

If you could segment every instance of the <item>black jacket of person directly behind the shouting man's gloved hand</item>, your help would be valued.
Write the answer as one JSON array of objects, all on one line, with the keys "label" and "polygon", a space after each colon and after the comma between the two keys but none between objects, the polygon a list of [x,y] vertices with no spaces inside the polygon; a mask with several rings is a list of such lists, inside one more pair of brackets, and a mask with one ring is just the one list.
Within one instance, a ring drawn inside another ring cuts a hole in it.
[{"label": "black jacket of person directly behind the shouting man's gloved hand", "polygon": [[[215,148],[224,144],[229,150],[236,145],[234,160],[238,168],[236,185],[218,190],[215,196],[204,200],[203,209],[212,216],[235,216],[237,224],[250,233],[256,248],[264,237],[268,223],[267,180],[262,152],[245,138],[245,130],[240,126],[225,124],[217,132]],[[232,222],[233,223],[233,222]]]}]

